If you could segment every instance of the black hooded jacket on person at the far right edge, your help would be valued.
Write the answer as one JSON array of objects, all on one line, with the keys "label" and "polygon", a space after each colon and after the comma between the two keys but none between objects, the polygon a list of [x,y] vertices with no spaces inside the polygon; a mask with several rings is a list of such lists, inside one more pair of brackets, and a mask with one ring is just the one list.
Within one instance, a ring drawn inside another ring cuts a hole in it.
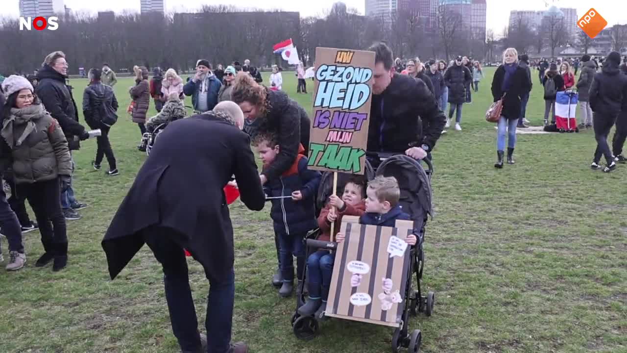
[{"label": "black hooded jacket on person at the far right edge", "polygon": [[604,115],[618,115],[627,99],[627,75],[623,75],[618,65],[606,60],[601,72],[594,75],[590,87],[590,107],[593,112]]}]

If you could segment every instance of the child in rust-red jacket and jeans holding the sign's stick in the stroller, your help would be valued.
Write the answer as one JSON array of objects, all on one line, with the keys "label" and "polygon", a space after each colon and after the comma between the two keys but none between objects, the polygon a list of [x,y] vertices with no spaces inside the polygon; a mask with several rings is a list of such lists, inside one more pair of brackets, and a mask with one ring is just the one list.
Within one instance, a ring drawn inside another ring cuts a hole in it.
[{"label": "child in rust-red jacket and jeans holding the sign's stick in the stroller", "polygon": [[[356,215],[361,217],[366,212],[366,183],[361,177],[349,180],[344,187],[342,198],[336,195],[329,197],[329,203],[322,209],[318,217],[318,226],[322,232],[317,240],[330,241],[331,224],[335,223],[334,232],[339,232],[342,216]],[[307,259],[307,288],[309,298],[307,303],[298,308],[303,316],[314,315],[323,318],[322,313],[327,309],[327,297],[331,284],[331,273],[335,262],[335,253],[319,250]]]}]

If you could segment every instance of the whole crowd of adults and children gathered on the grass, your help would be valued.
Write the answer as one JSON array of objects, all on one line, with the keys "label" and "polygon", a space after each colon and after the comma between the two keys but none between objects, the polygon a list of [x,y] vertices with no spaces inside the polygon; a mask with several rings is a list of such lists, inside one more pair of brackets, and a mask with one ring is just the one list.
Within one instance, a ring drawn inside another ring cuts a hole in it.
[{"label": "whole crowd of adults and children gathered on the grass", "polygon": [[[403,64],[393,60],[385,43],[376,43],[368,50],[375,53],[375,66],[367,150],[431,159],[453,114],[455,128],[461,131],[462,107],[472,103],[473,90],[478,92],[482,66],[461,56],[450,63],[428,60],[424,65],[413,58]],[[625,161],[621,149],[627,137],[627,75],[619,69],[618,53],[604,60],[601,72],[588,62],[590,58],[584,55],[577,82],[568,63],[560,63],[559,71],[557,64],[551,63],[542,72],[545,120],[548,110],[555,109],[553,92],[574,86],[586,90],[582,123],[594,127],[598,142],[592,167],[602,168],[599,162],[604,156],[603,170],[612,171],[616,161]],[[621,68],[627,73],[624,64]],[[35,87],[18,75],[8,77],[1,85],[0,171],[12,185],[9,200],[4,190],[0,192],[0,227],[9,242],[8,270],[23,268],[26,253],[22,231],[37,228],[44,253],[35,266],[52,262],[53,271],[65,268],[66,220],[79,219],[76,210],[87,207],[75,198],[72,153],[91,135],[78,120],[72,87],[66,82],[67,69],[65,54],[53,52],[38,70]],[[308,231],[320,227],[323,239],[343,241],[344,234],[339,232],[343,215],[357,215],[363,224],[376,225],[409,219],[398,205],[400,190],[394,178],[366,182],[358,176],[347,183],[341,196],[325,200],[324,210],[316,217],[314,202],[320,173],[307,167],[310,119],[305,109],[283,92],[277,66],[273,67],[268,87],[261,84],[260,72],[249,60],[243,66],[238,62],[226,68],[218,65],[216,70],[208,60],[198,60],[196,73],[186,83],[172,68],[165,73],[155,68],[150,80],[146,67],[135,67],[134,72],[135,85],[129,90],[132,103],[127,109],[132,121],[139,126],[142,137],[158,126],[166,125],[167,129],[162,129],[162,142],[154,144],[137,173],[102,247],[112,279],[144,244],[150,247],[162,264],[172,330],[183,352],[248,351],[243,343],[231,344],[234,249],[233,226],[223,191],[226,185],[237,187],[241,201],[251,210],[263,209],[266,197],[271,197],[270,217],[277,250],[277,270],[271,282],[280,296],[291,296],[295,283],[303,281],[307,266],[308,300],[298,310],[301,315],[324,312],[334,263],[329,251],[317,251],[305,258],[303,238]],[[296,75],[298,90],[306,92],[302,63]],[[88,78],[83,115],[90,129],[101,131],[93,168],[99,170],[103,158],[107,158],[107,175],[118,175],[108,141],[110,128],[118,119],[119,104],[112,89],[117,77],[105,63],[102,69],[90,69]],[[508,164],[515,163],[516,129],[525,126],[531,89],[528,58],[508,48],[491,85],[493,101],[502,100],[503,106],[497,123],[495,168],[503,168],[505,158]],[[183,103],[185,95],[191,97],[194,109],[189,117]],[[158,114],[147,117],[151,99]],[[587,114],[588,108],[591,114]],[[613,154],[607,138],[614,123],[617,133]],[[261,172],[251,141],[263,162]],[[177,148],[169,148],[172,145]],[[140,144],[139,148],[145,146]],[[36,225],[28,219],[25,200],[33,209]],[[142,212],[136,212],[138,209]],[[335,234],[330,234],[332,224]],[[416,236],[410,235],[405,241],[413,245]],[[198,331],[185,250],[202,264],[210,283],[207,335]]]}]

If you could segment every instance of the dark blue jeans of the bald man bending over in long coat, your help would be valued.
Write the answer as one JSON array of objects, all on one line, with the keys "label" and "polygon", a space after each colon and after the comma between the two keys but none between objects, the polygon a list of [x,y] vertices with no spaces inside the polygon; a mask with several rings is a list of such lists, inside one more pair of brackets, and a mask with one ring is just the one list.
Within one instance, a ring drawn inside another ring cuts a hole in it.
[{"label": "dark blue jeans of the bald man bending over in long coat", "polygon": [[[185,253],[174,237],[182,237],[165,227],[149,227],[143,231],[144,241],[163,268],[167,308],[170,312],[172,332],[181,350],[196,352],[201,347],[196,308],[189,287]],[[226,353],[231,349],[231,326],[235,300],[235,273],[226,270],[224,281],[209,280],[209,299],[205,328],[209,353]]]}]

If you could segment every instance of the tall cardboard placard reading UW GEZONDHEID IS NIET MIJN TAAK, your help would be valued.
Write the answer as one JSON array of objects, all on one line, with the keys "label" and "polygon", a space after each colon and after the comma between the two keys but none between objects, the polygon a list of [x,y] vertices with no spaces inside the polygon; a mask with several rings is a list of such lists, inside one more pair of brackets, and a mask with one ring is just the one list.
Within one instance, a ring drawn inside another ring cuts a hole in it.
[{"label": "tall cardboard placard reading UW GEZONDHEID IS NIET MIJN TAAK", "polygon": [[374,76],[374,52],[315,50],[312,170],[364,174]]}]

